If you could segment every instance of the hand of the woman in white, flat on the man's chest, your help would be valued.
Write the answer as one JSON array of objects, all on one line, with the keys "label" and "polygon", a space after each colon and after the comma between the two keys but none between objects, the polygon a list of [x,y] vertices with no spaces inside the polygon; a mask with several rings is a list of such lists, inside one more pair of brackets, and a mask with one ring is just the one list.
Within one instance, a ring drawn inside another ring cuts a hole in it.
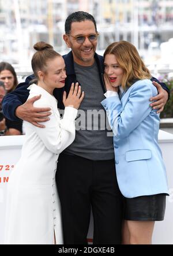
[{"label": "hand of the woman in white, flat on the man's chest", "polygon": [[63,105],[65,107],[74,107],[78,109],[82,100],[84,99],[84,91],[81,93],[81,86],[78,83],[72,83],[68,97],[66,97],[66,91],[63,92]]}]

